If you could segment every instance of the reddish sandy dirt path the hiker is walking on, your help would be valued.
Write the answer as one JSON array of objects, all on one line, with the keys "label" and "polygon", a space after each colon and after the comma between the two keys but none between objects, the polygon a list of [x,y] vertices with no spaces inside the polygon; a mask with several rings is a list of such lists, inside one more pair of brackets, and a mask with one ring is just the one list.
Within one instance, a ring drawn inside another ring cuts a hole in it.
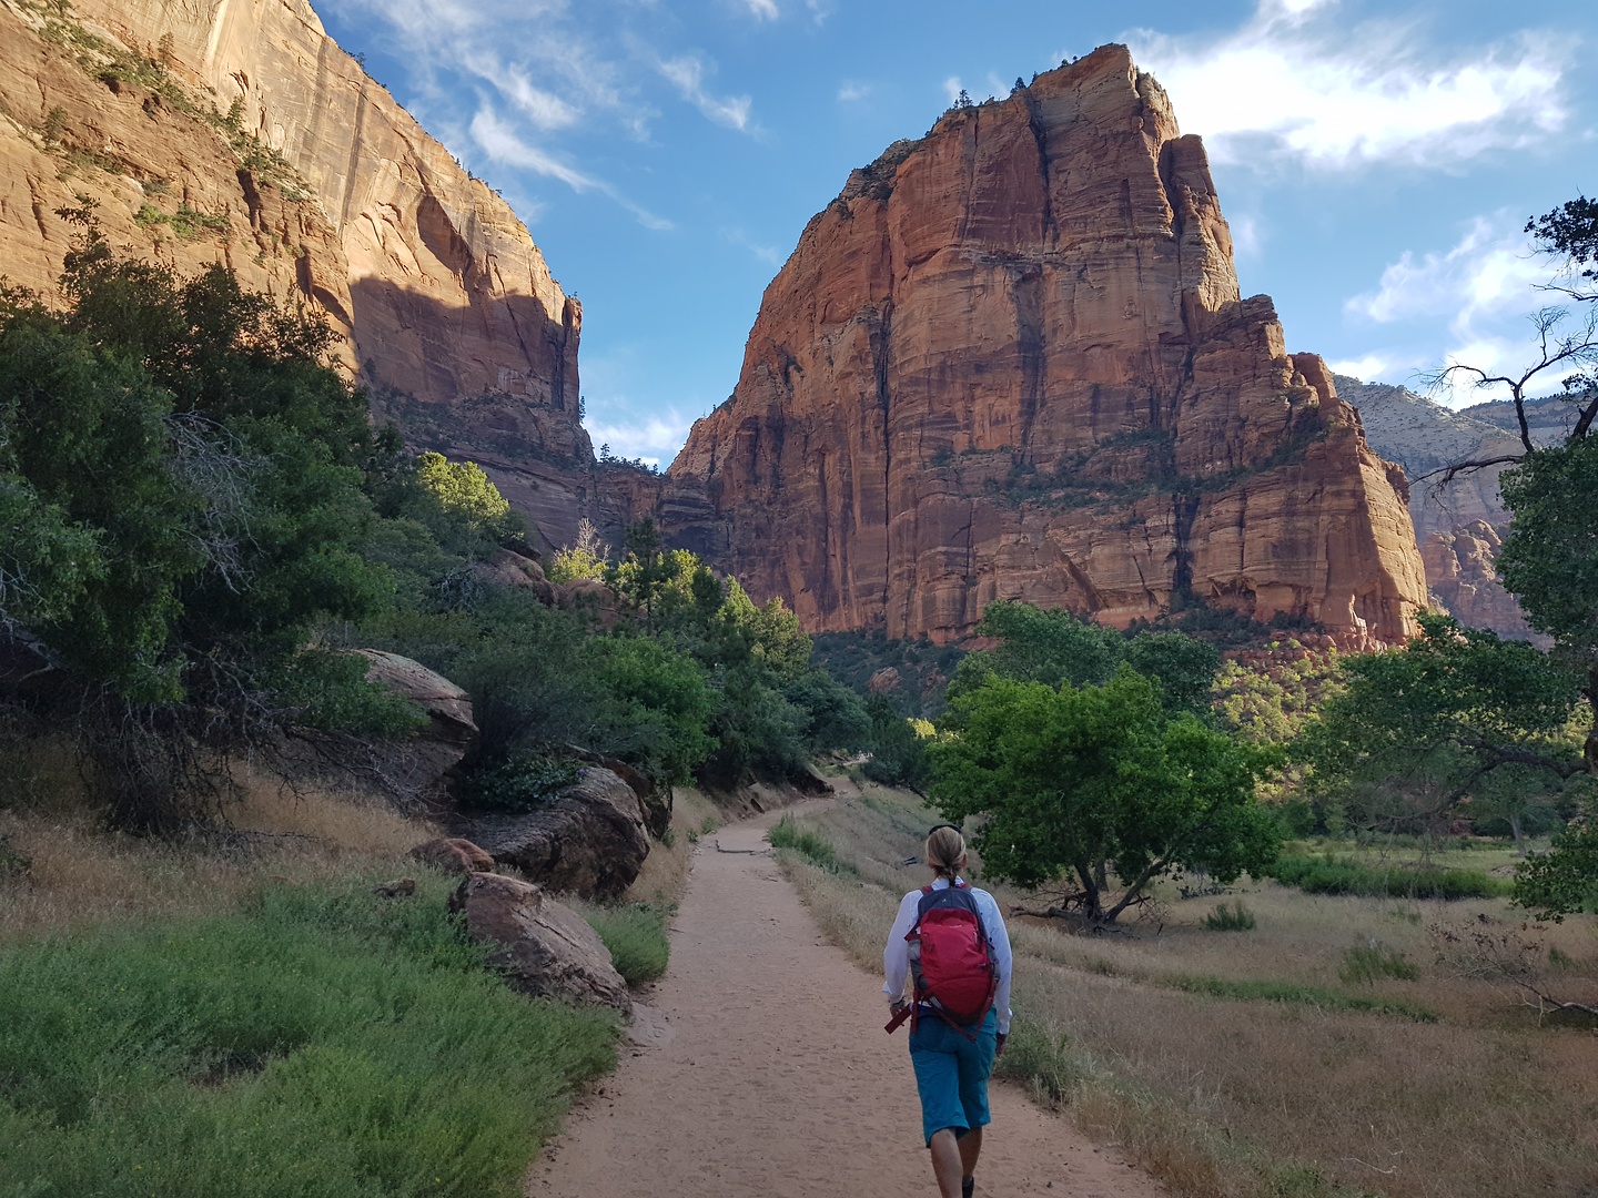
[{"label": "reddish sandy dirt path the hiker is walking on", "polygon": [[[655,1043],[572,1115],[529,1198],[936,1193],[904,1032],[882,1033],[880,981],[821,939],[762,853],[777,815],[700,845],[644,1025]],[[991,1101],[978,1195],[1163,1195],[1020,1089]]]}]

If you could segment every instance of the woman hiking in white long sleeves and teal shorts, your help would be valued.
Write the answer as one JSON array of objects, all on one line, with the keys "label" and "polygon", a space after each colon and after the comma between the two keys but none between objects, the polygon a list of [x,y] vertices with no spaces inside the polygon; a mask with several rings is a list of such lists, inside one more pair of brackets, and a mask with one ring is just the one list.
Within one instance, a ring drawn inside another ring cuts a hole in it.
[{"label": "woman hiking in white long sleeves and teal shorts", "polygon": [[[954,824],[927,834],[932,885],[912,890],[882,950],[892,1032],[911,1021],[909,1059],[941,1198],[972,1198],[983,1150],[988,1075],[1010,1033],[1010,934],[999,904],[960,877],[965,837]],[[904,998],[904,978],[914,994]]]}]

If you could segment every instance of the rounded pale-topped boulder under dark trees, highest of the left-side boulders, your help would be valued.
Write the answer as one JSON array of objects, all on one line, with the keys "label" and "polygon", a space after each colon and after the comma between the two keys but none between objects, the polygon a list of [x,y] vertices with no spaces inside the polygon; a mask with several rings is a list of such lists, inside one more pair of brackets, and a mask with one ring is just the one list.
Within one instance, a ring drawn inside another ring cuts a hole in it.
[{"label": "rounded pale-topped boulder under dark trees, highest of the left-side boulders", "polygon": [[471,720],[471,698],[465,690],[419,661],[377,649],[356,649],[371,664],[366,677],[380,682],[427,712],[427,727],[393,741],[374,741],[371,772],[384,791],[412,803],[441,803],[447,795],[449,772],[460,764],[478,738]]}]

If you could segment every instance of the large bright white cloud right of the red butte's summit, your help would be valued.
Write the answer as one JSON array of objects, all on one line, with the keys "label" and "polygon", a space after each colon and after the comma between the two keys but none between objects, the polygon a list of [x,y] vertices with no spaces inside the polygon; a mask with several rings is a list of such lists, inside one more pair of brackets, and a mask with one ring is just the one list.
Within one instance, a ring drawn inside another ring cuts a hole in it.
[{"label": "large bright white cloud right of the red butte's summit", "polygon": [[1558,133],[1569,42],[1523,35],[1438,62],[1389,22],[1333,27],[1331,0],[1261,0],[1235,34],[1131,35],[1218,161],[1288,153],[1317,168],[1446,165]]}]

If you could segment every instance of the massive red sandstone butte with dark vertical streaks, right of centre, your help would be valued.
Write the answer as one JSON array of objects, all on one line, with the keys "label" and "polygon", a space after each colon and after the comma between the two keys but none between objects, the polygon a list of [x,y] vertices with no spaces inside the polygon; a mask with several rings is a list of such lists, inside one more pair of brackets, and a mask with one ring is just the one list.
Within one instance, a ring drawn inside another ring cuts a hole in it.
[{"label": "massive red sandstone butte with dark vertical streaks, right of centre", "polygon": [[1393,642],[1425,604],[1403,473],[1240,296],[1203,145],[1123,46],[855,171],[670,476],[668,530],[810,629],[1197,599]]}]

